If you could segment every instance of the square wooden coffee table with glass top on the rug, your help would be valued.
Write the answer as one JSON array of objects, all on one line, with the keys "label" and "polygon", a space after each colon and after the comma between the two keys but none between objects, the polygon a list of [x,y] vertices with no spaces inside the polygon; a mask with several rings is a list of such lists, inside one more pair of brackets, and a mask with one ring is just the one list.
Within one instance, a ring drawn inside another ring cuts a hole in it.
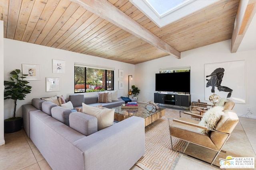
[{"label": "square wooden coffee table with glass top on the rug", "polygon": [[125,109],[122,109],[121,106],[119,106],[119,107],[114,107],[112,109],[115,109],[115,115],[114,115],[115,121],[122,121],[129,117],[137,116],[145,119],[145,127],[165,115],[164,108],[159,108],[159,110],[157,110],[156,107],[154,106],[138,105],[138,108],[125,108]]}]

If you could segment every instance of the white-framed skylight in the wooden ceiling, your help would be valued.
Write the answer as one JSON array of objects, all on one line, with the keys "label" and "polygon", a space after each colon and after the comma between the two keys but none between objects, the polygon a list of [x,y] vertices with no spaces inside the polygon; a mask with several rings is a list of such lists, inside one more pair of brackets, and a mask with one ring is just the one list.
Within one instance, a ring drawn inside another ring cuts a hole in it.
[{"label": "white-framed skylight in the wooden ceiling", "polygon": [[164,27],[220,0],[130,0],[158,27]]}]

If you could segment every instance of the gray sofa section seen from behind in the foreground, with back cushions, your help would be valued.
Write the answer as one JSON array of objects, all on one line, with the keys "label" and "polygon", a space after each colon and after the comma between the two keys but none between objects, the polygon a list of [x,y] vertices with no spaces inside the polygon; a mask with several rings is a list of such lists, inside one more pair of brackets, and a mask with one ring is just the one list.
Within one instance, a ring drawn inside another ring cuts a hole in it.
[{"label": "gray sofa section seen from behind in the foreground, with back cushions", "polygon": [[96,117],[41,99],[23,105],[22,116],[26,133],[54,170],[129,170],[145,152],[140,117],[98,131]]}]

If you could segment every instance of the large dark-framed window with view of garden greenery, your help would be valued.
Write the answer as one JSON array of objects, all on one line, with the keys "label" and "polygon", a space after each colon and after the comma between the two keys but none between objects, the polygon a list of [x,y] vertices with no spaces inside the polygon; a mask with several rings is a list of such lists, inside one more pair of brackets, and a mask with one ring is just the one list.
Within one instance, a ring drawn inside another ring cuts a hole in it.
[{"label": "large dark-framed window with view of garden greenery", "polygon": [[74,83],[75,93],[114,90],[114,70],[76,66],[75,64]]}]

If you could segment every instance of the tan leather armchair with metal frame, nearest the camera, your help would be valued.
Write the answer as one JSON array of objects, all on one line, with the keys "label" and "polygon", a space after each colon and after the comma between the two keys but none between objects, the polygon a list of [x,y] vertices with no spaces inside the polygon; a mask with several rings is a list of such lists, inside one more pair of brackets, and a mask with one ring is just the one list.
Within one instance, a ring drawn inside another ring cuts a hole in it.
[{"label": "tan leather armchair with metal frame, nearest the camera", "polygon": [[[189,112],[186,112],[186,114],[203,117],[202,115]],[[224,144],[228,141],[230,134],[236,127],[238,121],[239,119],[237,114],[232,110],[224,111],[224,115],[221,116],[215,129],[208,129],[206,126],[198,125],[200,121],[194,119],[183,117],[180,119],[169,119],[168,125],[172,150],[219,168],[219,166],[214,164],[214,161],[216,160],[218,154],[222,151]],[[204,129],[209,133],[203,134],[198,129]],[[186,146],[184,147],[183,151],[176,149],[172,141],[173,137],[186,141]],[[203,158],[207,157],[208,155],[202,155],[202,150],[199,151],[198,146],[203,150],[214,151],[213,153],[215,155],[212,154],[213,159],[204,160]]]}]

